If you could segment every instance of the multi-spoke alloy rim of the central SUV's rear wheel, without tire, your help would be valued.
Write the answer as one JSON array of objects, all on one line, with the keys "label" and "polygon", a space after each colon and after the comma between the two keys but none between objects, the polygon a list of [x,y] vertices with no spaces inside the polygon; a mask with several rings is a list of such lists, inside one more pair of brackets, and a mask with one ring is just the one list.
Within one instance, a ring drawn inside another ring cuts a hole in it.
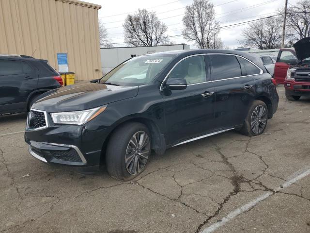
[{"label": "multi-spoke alloy rim of the central SUV's rear wheel, without tire", "polygon": [[253,133],[262,133],[267,123],[267,110],[263,105],[257,106],[251,116],[251,129]]}]

